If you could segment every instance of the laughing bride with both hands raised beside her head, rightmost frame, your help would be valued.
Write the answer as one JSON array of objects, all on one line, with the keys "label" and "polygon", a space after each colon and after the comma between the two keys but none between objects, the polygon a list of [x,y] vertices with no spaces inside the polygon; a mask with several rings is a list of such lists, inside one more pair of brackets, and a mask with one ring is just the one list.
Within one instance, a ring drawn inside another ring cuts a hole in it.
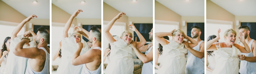
[{"label": "laughing bride with both hands raised beside her head, rightmost frame", "polygon": [[235,43],[235,30],[228,29],[224,32],[225,42],[217,42],[220,39],[219,33],[220,29],[218,30],[217,37],[208,41],[206,45],[207,51],[214,51],[215,55],[216,66],[212,74],[238,74],[238,55],[251,52],[249,46],[245,42],[245,37],[239,32],[239,39],[245,46],[242,47]]}]

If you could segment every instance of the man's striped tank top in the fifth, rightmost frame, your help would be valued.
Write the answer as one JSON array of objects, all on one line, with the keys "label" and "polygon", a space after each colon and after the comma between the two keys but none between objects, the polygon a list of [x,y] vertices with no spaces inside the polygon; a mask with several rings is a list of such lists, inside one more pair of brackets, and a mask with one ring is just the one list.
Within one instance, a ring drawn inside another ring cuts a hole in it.
[{"label": "man's striped tank top in the fifth, rightmost frame", "polygon": [[[254,39],[251,40],[251,42],[248,44],[251,50],[252,42]],[[240,44],[242,46],[242,43]],[[250,53],[241,53],[242,55],[245,55],[247,57],[254,57],[252,54],[252,50]],[[240,74],[256,74],[256,62],[248,62],[245,60],[241,60],[240,63],[240,69],[239,69]]]}]

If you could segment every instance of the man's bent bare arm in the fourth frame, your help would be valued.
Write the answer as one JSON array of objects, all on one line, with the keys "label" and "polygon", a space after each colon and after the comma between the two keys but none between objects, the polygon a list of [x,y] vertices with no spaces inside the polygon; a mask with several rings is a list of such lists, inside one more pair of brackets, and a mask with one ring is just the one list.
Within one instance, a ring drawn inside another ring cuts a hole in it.
[{"label": "man's bent bare arm in the fourth frame", "polygon": [[194,56],[196,56],[200,59],[202,59],[204,57],[204,42],[202,42],[200,44],[200,46],[201,46],[201,48],[199,48],[200,51],[196,51],[196,50],[192,49],[190,47],[190,45],[188,44],[188,42],[186,42],[186,41],[183,41],[183,44],[185,45],[185,48],[188,49],[188,51],[190,51],[190,53],[193,54]]}]

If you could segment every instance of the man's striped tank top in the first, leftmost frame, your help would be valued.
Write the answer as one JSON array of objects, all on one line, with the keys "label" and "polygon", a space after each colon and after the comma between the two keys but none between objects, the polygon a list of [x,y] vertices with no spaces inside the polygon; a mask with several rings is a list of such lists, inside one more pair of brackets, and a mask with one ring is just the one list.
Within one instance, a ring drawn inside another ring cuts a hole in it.
[{"label": "man's striped tank top in the first, leftmost frame", "polygon": [[50,73],[50,54],[43,47],[40,47],[38,49],[43,49],[46,52],[46,60],[44,63],[43,70],[41,72],[35,72],[30,66],[30,58],[29,58],[27,62],[27,68],[26,68],[25,74],[49,74]]}]

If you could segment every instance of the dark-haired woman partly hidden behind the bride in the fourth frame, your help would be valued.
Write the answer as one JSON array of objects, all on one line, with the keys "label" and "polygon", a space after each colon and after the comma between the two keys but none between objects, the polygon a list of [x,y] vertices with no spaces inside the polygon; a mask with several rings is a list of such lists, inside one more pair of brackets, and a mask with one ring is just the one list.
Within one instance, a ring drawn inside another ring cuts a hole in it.
[{"label": "dark-haired woman partly hidden behind the bride in the fourth frame", "polygon": [[[165,38],[166,40],[169,40],[169,37],[168,36],[164,36],[163,38]],[[159,66],[158,66],[158,58],[159,58],[159,56],[160,55],[162,55],[162,44],[158,44],[158,47],[159,48],[157,48],[157,50],[156,50],[156,52],[155,52],[155,68],[157,68],[157,69],[160,69],[161,67],[162,67],[162,65],[160,64]]]}]

